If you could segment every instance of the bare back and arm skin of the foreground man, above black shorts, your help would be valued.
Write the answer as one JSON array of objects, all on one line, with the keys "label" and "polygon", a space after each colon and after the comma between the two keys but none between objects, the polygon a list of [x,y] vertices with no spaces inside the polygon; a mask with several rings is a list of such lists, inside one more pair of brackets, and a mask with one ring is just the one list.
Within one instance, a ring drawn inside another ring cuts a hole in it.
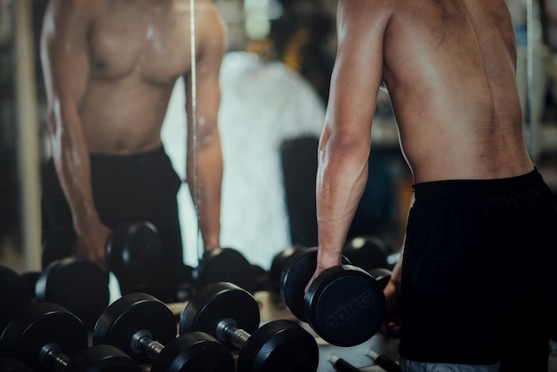
[{"label": "bare back and arm skin of the foreground man, above black shorts", "polygon": [[[534,169],[522,137],[505,0],[339,0],[337,31],[319,143],[319,255],[311,280],[341,263],[367,182],[380,88],[390,94],[414,182],[505,178]],[[401,264],[385,288],[390,309]]]}]

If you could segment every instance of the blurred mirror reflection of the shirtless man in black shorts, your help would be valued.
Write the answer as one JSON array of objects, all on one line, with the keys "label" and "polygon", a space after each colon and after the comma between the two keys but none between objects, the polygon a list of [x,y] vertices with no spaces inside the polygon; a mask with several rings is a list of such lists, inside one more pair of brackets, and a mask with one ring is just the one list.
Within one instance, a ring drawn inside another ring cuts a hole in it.
[{"label": "blurred mirror reflection of the shirtless man in black shorts", "polygon": [[[196,0],[195,11],[198,214],[210,250],[219,246],[220,235],[217,115],[225,45],[211,1]],[[42,37],[52,142],[44,174],[44,233],[73,224],[77,254],[106,266],[110,230],[147,220],[163,237],[165,272],[178,270],[182,238],[175,197],[181,182],[160,130],[178,77],[185,77],[186,110],[192,112],[190,45],[190,0],[51,1]],[[189,133],[192,125],[188,115]],[[193,194],[193,182],[189,186]],[[61,205],[64,199],[69,208]]]}]

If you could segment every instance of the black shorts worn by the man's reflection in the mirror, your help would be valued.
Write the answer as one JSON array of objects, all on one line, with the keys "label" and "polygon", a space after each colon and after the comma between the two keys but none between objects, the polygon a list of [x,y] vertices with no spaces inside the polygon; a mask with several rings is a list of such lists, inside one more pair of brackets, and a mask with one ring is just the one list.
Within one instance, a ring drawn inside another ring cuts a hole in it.
[{"label": "black shorts worn by the man's reflection in the mirror", "polygon": [[[91,155],[90,162],[93,199],[101,222],[115,229],[127,222],[149,221],[157,227],[165,250],[160,280],[157,283],[119,283],[122,294],[141,290],[168,300],[165,297],[181,280],[183,263],[176,200],[182,182],[170,158],[160,147],[129,156]],[[45,239],[56,228],[69,226],[73,229],[73,222],[52,159],[43,166],[42,183]]]}]

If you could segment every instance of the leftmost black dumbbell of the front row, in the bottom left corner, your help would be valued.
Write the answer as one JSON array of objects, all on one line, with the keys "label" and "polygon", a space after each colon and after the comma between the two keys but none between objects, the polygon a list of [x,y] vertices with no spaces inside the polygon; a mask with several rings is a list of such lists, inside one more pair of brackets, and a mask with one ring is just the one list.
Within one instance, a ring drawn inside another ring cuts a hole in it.
[{"label": "leftmost black dumbbell of the front row, in the bottom left corner", "polygon": [[0,355],[38,372],[141,372],[114,346],[88,347],[83,322],[57,303],[35,303],[20,311],[0,336]]}]

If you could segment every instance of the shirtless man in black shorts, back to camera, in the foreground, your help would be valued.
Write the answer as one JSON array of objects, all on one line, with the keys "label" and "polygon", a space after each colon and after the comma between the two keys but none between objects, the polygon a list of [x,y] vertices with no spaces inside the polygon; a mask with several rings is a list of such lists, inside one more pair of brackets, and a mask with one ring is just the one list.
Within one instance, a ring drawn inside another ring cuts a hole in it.
[{"label": "shirtless man in black shorts, back to camera, in the foreground", "polygon": [[316,273],[341,262],[384,83],[416,183],[385,288],[390,309],[400,298],[401,366],[546,371],[557,220],[522,138],[505,1],[340,0],[337,15]]}]

